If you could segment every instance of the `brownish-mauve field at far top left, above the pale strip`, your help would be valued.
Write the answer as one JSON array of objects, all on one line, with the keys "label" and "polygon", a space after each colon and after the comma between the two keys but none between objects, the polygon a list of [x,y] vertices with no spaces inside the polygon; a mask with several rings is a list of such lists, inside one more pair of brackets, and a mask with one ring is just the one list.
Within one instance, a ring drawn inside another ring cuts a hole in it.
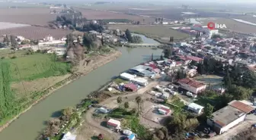
[{"label": "brownish-mauve field at far top left, above the pale strip", "polygon": [[[46,26],[56,19],[50,8],[0,8],[0,21]],[[59,10],[56,10],[59,11]]]}]

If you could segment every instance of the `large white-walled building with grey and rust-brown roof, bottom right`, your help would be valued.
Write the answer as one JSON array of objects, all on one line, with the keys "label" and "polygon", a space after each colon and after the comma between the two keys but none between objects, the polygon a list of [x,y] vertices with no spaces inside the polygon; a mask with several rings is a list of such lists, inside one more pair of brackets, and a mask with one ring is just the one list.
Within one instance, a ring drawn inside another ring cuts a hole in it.
[{"label": "large white-walled building with grey and rust-brown roof, bottom right", "polygon": [[213,118],[207,119],[217,134],[222,134],[245,120],[246,114],[254,110],[242,101],[231,101],[226,107],[213,113]]}]

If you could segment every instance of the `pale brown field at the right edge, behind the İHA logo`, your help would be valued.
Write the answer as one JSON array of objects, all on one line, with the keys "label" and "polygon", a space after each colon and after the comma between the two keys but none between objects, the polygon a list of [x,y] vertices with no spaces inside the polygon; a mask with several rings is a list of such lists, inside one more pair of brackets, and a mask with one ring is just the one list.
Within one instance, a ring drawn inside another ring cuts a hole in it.
[{"label": "pale brown field at the right edge, behind the \u0130HA logo", "polygon": [[256,33],[256,26],[249,25],[246,23],[240,23],[238,21],[228,19],[228,18],[204,19],[201,21],[203,22],[203,25],[206,25],[210,21],[219,23],[219,24],[225,24],[227,27],[227,30],[232,30],[239,33]]}]

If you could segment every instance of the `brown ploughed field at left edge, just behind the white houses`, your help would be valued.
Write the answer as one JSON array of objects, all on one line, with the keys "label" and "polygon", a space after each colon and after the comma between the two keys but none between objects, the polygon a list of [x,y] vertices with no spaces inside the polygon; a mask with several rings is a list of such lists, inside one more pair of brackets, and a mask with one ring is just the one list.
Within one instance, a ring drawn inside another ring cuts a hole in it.
[{"label": "brown ploughed field at left edge, just behind the white houses", "polygon": [[71,30],[53,30],[40,26],[25,26],[0,30],[0,36],[14,35],[24,36],[26,39],[43,39],[46,36],[53,36],[55,39],[61,39],[63,36],[71,33]]}]

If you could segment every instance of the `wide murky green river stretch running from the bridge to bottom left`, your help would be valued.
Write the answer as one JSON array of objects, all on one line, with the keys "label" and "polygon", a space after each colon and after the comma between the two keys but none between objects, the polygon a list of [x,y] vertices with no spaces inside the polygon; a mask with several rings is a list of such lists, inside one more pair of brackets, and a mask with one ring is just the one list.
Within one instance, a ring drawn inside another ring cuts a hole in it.
[{"label": "wide murky green river stretch running from the bridge to bottom left", "polygon": [[118,76],[136,64],[149,61],[152,53],[154,58],[159,58],[162,53],[161,49],[150,48],[120,48],[120,51],[123,53],[120,58],[62,87],[22,114],[0,133],[0,140],[34,140],[45,127],[45,122],[50,120],[50,117],[59,115],[59,110],[69,106],[75,107],[75,104],[110,81],[113,76]]}]

